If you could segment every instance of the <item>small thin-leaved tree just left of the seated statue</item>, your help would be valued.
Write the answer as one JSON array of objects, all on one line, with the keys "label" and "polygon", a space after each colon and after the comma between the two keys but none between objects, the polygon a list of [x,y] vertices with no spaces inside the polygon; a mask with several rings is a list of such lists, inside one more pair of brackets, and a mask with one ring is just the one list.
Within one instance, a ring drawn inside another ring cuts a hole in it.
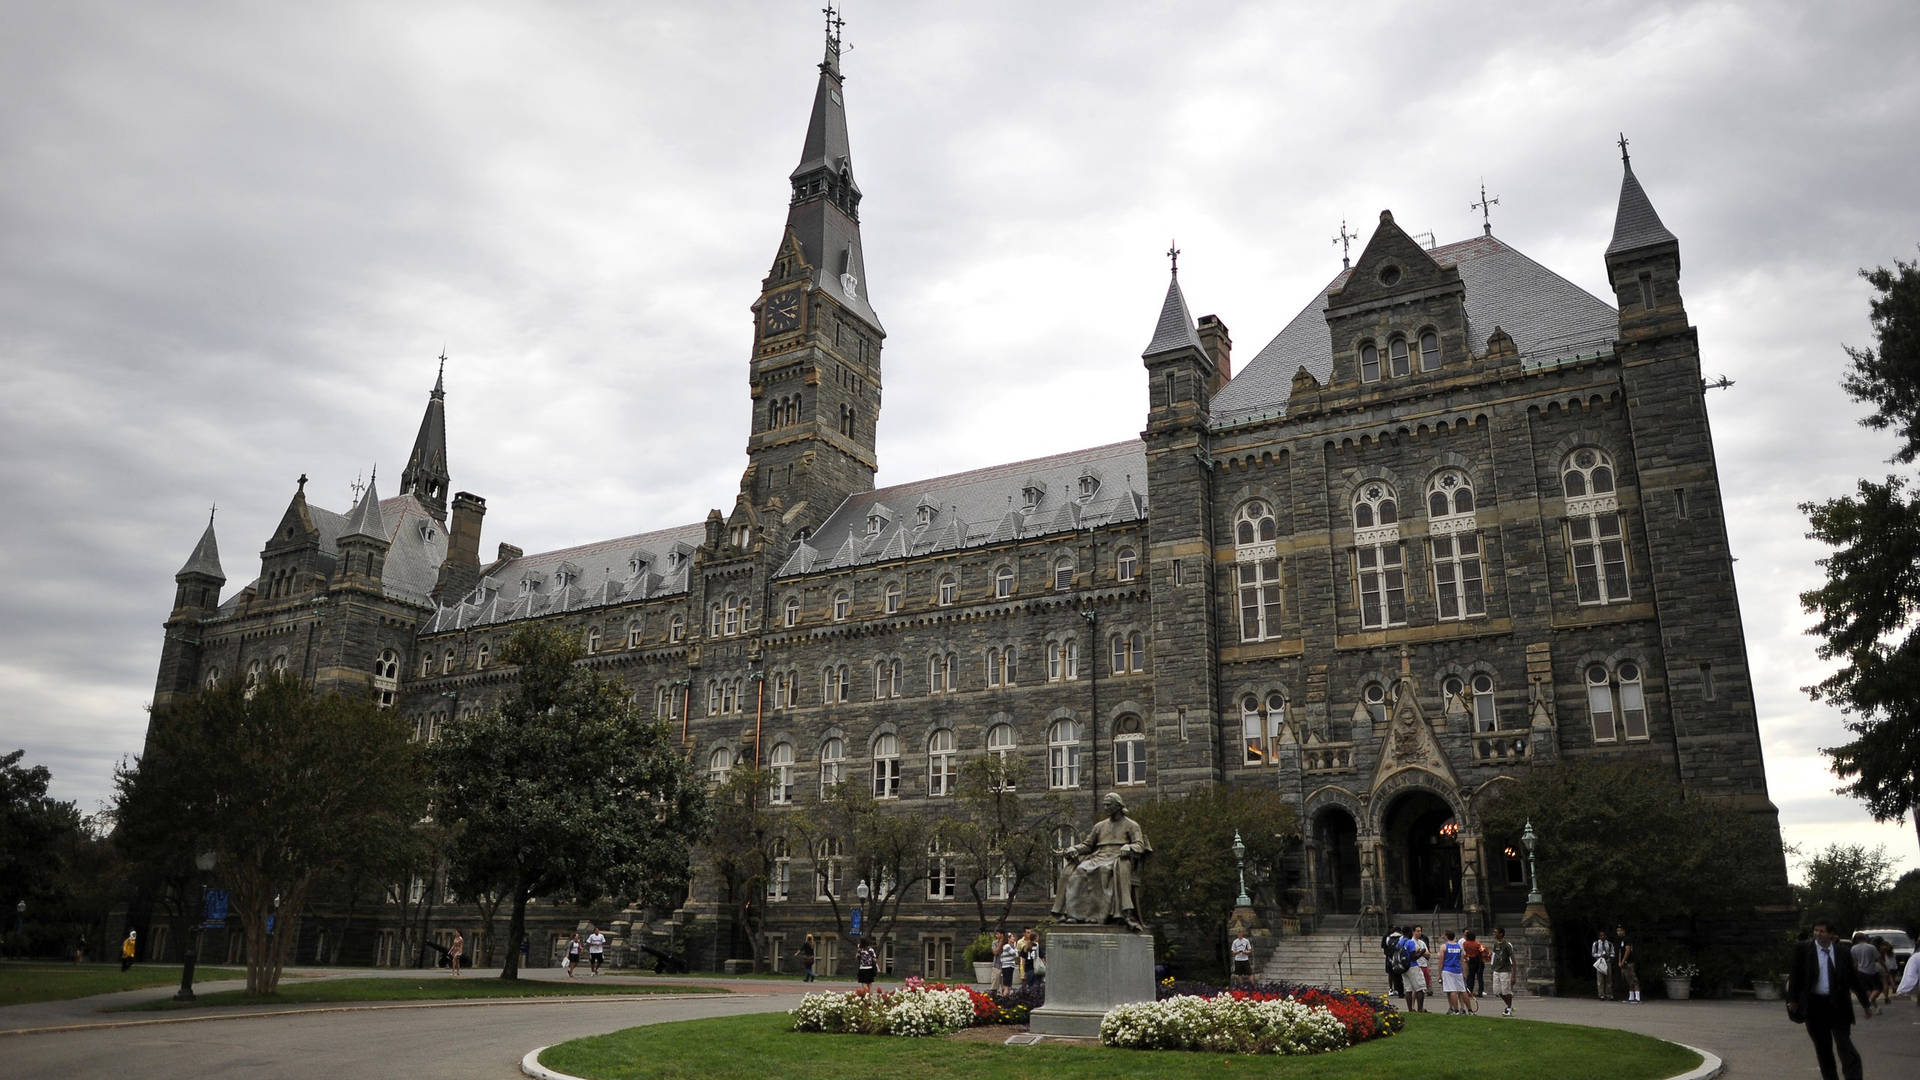
[{"label": "small thin-leaved tree just left of the seated statue", "polygon": [[1060,792],[1021,794],[1027,773],[1027,761],[1012,753],[968,759],[954,788],[960,819],[939,832],[956,855],[954,871],[973,897],[981,932],[1006,930],[1031,882],[1052,888],[1054,830],[1068,824],[1069,805]]}]

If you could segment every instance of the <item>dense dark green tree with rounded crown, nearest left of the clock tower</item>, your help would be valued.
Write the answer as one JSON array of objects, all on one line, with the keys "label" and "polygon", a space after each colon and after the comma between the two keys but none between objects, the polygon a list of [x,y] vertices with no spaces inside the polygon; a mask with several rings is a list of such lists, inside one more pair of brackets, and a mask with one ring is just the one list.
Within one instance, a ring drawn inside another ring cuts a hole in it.
[{"label": "dense dark green tree with rounded crown, nearest left of the clock tower", "polygon": [[536,896],[678,899],[710,815],[666,723],[643,721],[584,657],[551,626],[515,630],[501,650],[518,667],[513,692],[442,726],[428,749],[434,813],[463,830],[449,851],[455,892],[513,903],[501,978],[520,976]]}]

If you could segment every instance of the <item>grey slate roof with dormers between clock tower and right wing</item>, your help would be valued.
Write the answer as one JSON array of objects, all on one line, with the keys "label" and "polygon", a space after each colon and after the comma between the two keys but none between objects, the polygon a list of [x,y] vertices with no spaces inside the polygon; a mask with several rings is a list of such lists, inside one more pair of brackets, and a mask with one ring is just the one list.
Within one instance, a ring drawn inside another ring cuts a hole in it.
[{"label": "grey slate roof with dormers between clock tower and right wing", "polygon": [[[1087,498],[1081,477],[1094,479]],[[1027,492],[1037,494],[1031,507]],[[877,532],[868,519],[877,521]],[[1116,442],[856,494],[797,544],[774,577],[1144,519],[1146,446]]]}]

